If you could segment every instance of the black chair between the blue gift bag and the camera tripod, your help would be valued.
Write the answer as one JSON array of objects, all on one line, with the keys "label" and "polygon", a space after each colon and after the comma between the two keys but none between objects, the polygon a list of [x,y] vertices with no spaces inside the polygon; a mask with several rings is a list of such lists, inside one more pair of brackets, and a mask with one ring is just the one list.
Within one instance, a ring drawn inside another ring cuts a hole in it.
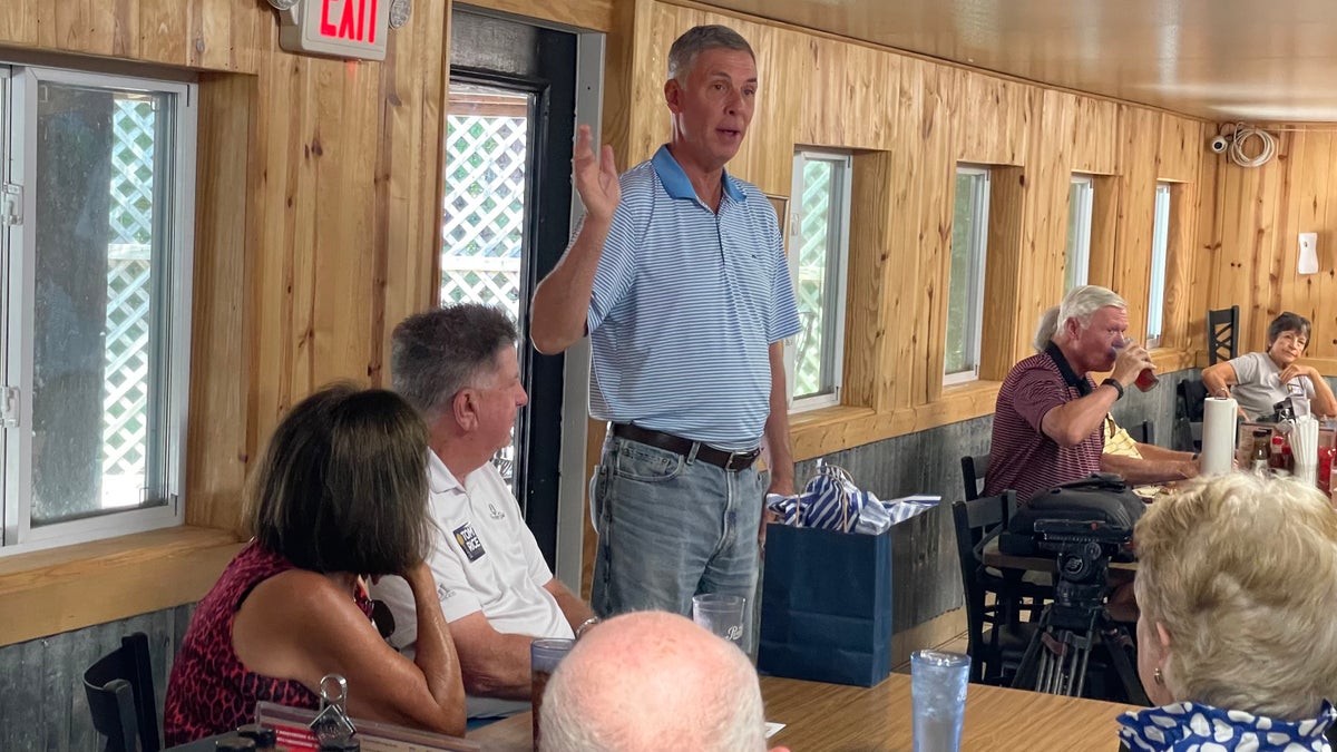
[{"label": "black chair between the blue gift bag and the camera tripod", "polygon": [[[969,458],[963,458],[964,460]],[[1007,527],[1016,510],[1016,491],[952,504],[956,525],[956,553],[961,565],[961,590],[965,594],[967,644],[971,654],[971,681],[1007,684],[1021,664],[1025,646],[1038,625],[1021,622],[1019,612],[1028,607],[1023,598],[1032,598],[1029,607],[1039,607],[1048,587],[1021,582],[1020,571],[1000,573],[980,561],[992,534]],[[989,594],[993,595],[989,602]],[[988,626],[988,630],[985,630]]]}]

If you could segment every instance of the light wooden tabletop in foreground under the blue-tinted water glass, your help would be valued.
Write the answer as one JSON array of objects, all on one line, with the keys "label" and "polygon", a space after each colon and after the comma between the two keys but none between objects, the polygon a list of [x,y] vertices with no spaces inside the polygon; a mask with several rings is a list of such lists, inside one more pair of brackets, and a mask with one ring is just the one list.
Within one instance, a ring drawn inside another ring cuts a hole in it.
[{"label": "light wooden tabletop in foreground under the blue-tinted water glass", "polygon": [[[893,673],[877,686],[844,686],[762,677],[766,720],[785,728],[769,745],[793,752],[908,752],[912,749],[910,677]],[[1114,751],[1116,716],[1131,705],[1056,697],[972,684],[965,700],[961,749],[1008,752],[1044,749]],[[469,735],[484,752],[528,752],[529,713]],[[671,749],[671,740],[664,740]]]}]

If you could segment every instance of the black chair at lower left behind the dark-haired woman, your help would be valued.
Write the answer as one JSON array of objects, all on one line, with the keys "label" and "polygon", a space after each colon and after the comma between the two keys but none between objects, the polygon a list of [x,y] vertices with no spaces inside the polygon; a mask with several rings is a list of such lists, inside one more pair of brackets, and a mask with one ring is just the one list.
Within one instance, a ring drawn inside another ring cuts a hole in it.
[{"label": "black chair at lower left behind the dark-haired woman", "polygon": [[84,693],[92,727],[107,737],[104,752],[158,752],[158,700],[148,661],[148,636],[135,632],[120,638],[84,672]]}]

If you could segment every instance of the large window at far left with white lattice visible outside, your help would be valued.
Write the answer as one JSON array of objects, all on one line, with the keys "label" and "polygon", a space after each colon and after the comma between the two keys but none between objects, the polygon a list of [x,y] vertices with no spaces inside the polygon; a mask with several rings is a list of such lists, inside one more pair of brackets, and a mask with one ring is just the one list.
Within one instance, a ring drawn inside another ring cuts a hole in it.
[{"label": "large window at far left with white lattice visible outside", "polygon": [[3,550],[175,525],[194,86],[0,71]]}]

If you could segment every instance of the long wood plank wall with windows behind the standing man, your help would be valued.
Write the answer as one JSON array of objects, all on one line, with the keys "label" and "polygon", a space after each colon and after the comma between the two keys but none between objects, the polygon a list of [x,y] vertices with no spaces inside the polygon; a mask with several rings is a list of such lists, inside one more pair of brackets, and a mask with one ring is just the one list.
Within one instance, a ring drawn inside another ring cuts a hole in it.
[{"label": "long wood plank wall with windows behind the standing man", "polygon": [[[793,420],[800,459],[988,415],[997,381],[1029,352],[1035,321],[1063,293],[1068,183],[1099,175],[1091,280],[1123,293],[1134,336],[1146,329],[1152,197],[1182,182],[1173,210],[1162,369],[1194,361],[1186,294],[1201,223],[1194,214],[1203,142],[1214,126],[941,64],[866,44],[723,13],[689,0],[634,0],[610,37],[616,64],[604,131],[619,165],[667,139],[660,87],[670,43],[722,23],[757,51],[762,94],[730,170],[787,195],[796,146],[854,153],[845,404]],[[651,102],[655,106],[651,106]],[[630,107],[635,103],[635,107]],[[956,165],[995,169],[987,262],[983,380],[944,389]],[[591,458],[594,460],[595,458]]]}]

